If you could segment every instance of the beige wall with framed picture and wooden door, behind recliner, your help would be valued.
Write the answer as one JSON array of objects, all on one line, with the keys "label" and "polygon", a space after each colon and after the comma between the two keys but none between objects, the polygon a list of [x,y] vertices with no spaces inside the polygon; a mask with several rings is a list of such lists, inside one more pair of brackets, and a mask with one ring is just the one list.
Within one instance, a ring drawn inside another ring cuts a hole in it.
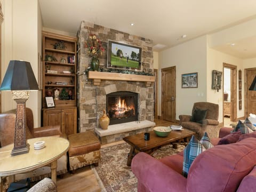
[{"label": "beige wall with framed picture and wooden door, behind recliner", "polygon": [[[206,36],[202,36],[159,52],[159,74],[162,68],[176,66],[176,119],[181,114],[190,115],[194,102],[206,101],[206,42]],[[198,88],[182,89],[181,74],[195,72],[198,73]],[[161,81],[159,75],[159,93]],[[161,97],[158,101],[161,107]]]}]

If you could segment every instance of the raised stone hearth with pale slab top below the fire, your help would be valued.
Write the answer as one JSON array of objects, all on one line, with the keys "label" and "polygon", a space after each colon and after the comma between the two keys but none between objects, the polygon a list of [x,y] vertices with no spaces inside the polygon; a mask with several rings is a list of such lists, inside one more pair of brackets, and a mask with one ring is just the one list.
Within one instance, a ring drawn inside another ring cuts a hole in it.
[{"label": "raised stone hearth with pale slab top below the fire", "polygon": [[123,137],[153,130],[155,122],[148,120],[109,125],[107,130],[96,128],[95,133],[102,144],[120,141]]}]

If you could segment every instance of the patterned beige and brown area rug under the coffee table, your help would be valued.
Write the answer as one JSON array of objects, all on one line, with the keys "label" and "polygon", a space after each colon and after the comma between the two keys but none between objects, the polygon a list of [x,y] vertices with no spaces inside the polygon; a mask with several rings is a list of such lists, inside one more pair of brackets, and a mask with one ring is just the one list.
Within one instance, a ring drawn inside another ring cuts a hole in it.
[{"label": "patterned beige and brown area rug under the coffee table", "polygon": [[[173,149],[172,145],[167,145],[157,149],[153,157],[162,158],[178,153],[184,148],[185,146],[178,145],[178,149]],[[130,146],[127,143],[100,149],[101,160],[95,171],[100,178],[99,182],[105,187],[102,191],[137,191],[137,178],[132,173],[131,167],[126,165],[129,151]]]}]

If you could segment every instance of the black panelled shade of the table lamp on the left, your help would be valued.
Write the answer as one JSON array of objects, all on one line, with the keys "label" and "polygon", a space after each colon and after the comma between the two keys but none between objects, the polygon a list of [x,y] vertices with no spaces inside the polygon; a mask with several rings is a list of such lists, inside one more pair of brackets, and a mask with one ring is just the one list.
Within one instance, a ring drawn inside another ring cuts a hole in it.
[{"label": "black panelled shade of the table lamp on the left", "polygon": [[6,70],[0,91],[38,90],[35,75],[27,61],[12,60]]}]

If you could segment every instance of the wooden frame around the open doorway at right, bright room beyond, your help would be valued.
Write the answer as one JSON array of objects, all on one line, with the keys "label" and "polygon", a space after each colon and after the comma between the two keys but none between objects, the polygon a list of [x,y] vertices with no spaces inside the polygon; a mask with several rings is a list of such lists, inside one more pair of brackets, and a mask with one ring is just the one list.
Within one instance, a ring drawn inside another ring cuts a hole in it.
[{"label": "wooden frame around the open doorway at right, bright room beyond", "polygon": [[[230,69],[230,121],[237,121],[237,66],[223,62],[223,69]],[[224,78],[224,76],[223,76]],[[224,81],[222,81],[222,122],[224,122]]]}]

